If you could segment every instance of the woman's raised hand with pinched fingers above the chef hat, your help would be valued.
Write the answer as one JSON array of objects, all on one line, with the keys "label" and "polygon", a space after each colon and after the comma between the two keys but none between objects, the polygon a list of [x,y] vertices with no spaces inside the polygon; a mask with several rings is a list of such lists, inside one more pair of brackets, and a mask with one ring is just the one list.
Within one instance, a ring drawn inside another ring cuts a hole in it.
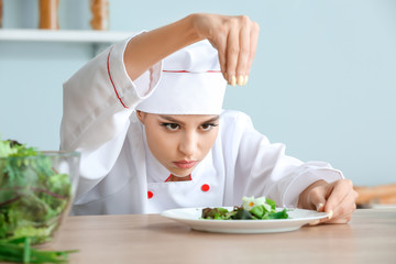
[{"label": "woman's raised hand with pinched fingers above the chef hat", "polygon": [[234,86],[248,82],[256,52],[258,24],[245,15],[194,14],[194,26],[219,52],[226,80]]}]

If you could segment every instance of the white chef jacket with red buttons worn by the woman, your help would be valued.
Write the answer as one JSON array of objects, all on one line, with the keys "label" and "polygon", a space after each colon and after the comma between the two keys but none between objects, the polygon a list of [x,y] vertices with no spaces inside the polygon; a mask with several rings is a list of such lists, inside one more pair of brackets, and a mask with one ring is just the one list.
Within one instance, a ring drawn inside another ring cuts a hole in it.
[{"label": "white chef jacket with red buttons worn by the woman", "polygon": [[239,206],[243,196],[296,207],[314,182],[343,177],[328,163],[285,155],[285,146],[270,143],[246,114],[224,110],[218,138],[191,180],[166,182],[169,172],[152,155],[134,112],[160,81],[162,63],[132,81],[123,64],[128,41],[103,51],[64,84],[61,148],[81,153],[74,215]]}]

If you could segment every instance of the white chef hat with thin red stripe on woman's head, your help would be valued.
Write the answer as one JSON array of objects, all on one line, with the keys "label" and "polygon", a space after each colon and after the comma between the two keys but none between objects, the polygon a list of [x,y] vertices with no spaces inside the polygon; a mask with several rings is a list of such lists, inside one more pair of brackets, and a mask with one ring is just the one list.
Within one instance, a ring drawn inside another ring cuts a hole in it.
[{"label": "white chef hat with thin red stripe on woman's head", "polygon": [[160,114],[220,114],[226,86],[217,50],[208,41],[200,41],[163,59],[157,87],[136,110]]}]

